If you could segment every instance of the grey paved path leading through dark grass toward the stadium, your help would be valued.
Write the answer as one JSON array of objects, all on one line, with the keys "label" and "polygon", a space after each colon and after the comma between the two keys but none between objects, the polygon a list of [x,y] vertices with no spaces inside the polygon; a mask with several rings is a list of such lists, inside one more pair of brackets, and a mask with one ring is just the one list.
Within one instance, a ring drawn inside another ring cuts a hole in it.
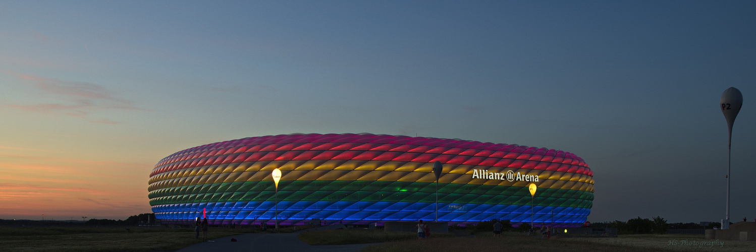
[{"label": "grey paved path leading through dark grass toward the stadium", "polygon": [[[308,251],[308,252],[353,252],[370,244],[310,245],[296,238],[296,233],[248,233],[215,238],[184,247],[177,252],[220,251]],[[231,241],[236,238],[237,241]]]}]

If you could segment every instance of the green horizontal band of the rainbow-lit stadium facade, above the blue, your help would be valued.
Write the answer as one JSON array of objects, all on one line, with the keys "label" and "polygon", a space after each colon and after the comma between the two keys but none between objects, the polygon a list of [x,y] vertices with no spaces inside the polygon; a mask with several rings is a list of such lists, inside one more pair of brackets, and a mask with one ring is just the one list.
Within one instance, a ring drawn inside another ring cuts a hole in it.
[{"label": "green horizontal band of the rainbow-lit stadium facade, above the blue", "polygon": [[[270,201],[274,185],[269,181],[212,183],[158,189],[149,193],[150,205],[224,201]],[[389,181],[286,181],[278,186],[279,201],[398,201],[435,202],[435,183]],[[530,204],[530,192],[522,186],[438,184],[438,202],[454,204]],[[571,189],[538,189],[535,204],[553,207],[593,206],[593,192]]]}]

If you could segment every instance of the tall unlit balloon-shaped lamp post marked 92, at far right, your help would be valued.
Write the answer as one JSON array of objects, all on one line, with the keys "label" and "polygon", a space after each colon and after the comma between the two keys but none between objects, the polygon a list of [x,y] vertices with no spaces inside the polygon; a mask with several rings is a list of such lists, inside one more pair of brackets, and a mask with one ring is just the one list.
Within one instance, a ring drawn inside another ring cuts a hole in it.
[{"label": "tall unlit balloon-shaped lamp post marked 92, at far right", "polygon": [[727,206],[725,207],[724,223],[722,223],[722,229],[730,229],[730,155],[731,146],[733,143],[733,123],[735,123],[735,117],[738,116],[740,108],[743,106],[743,94],[737,88],[727,88],[722,93],[722,98],[719,100],[720,109],[724,114],[724,119],[727,120]]}]

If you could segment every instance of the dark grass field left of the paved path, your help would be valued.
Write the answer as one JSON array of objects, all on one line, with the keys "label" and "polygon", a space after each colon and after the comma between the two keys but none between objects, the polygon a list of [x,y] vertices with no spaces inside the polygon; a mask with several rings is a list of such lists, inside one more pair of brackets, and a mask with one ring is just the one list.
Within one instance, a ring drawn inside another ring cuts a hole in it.
[{"label": "dark grass field left of the paved path", "polygon": [[[220,238],[247,230],[211,228],[208,236]],[[0,250],[171,251],[200,242],[194,234],[190,228],[0,226]]]}]

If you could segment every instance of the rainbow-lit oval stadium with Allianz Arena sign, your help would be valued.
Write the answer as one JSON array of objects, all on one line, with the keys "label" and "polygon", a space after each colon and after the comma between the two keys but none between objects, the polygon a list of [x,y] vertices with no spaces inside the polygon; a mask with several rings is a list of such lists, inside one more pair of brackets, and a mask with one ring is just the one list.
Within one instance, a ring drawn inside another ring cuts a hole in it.
[{"label": "rainbow-lit oval stadium with Allianz Arena sign", "polygon": [[[443,167],[440,222],[517,225],[533,214],[536,224],[581,226],[593,206],[593,171],[569,152],[376,134],[247,137],[184,149],[155,165],[148,191],[163,223],[203,215],[212,225],[432,221],[435,161]],[[530,183],[538,186],[533,197]]]}]

